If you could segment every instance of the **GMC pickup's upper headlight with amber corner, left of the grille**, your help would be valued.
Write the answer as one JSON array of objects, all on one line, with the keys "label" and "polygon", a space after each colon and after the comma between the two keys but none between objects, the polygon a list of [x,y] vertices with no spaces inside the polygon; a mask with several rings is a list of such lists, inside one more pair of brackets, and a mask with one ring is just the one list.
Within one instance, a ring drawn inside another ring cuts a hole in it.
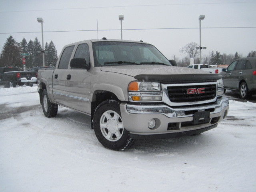
[{"label": "GMC pickup's upper headlight with amber corner, left of the grille", "polygon": [[159,92],[161,91],[161,84],[157,82],[133,81],[129,83],[128,91]]}]

